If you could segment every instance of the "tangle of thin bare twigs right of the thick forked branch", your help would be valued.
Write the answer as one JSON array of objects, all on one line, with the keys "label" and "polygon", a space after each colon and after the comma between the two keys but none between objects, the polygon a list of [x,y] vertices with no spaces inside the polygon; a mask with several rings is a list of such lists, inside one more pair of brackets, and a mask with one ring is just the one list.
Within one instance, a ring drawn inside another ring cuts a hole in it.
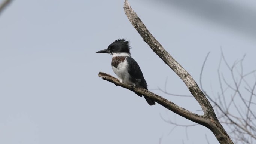
[{"label": "tangle of thin bare twigs right of the thick forked branch", "polygon": [[[253,106],[256,103],[252,101],[253,95],[255,95],[256,78],[253,86],[250,86],[245,77],[253,75],[255,70],[244,74],[243,61],[245,55],[240,60],[235,61],[231,66],[226,61],[222,51],[221,55],[218,68],[221,94],[218,94],[217,99],[213,99],[210,98],[204,90],[202,91],[216,106],[216,113],[220,122],[228,126],[231,130],[230,136],[235,140],[235,143],[251,144],[256,140],[256,113],[253,111],[253,108],[255,108]],[[228,83],[228,77],[220,72],[222,61],[224,61],[226,68],[228,68],[231,73],[229,74],[232,79],[231,83]],[[238,64],[240,65],[238,66]],[[200,77],[200,81],[201,79]],[[222,81],[224,83],[222,83]],[[242,95],[241,91],[244,91],[241,89],[242,82],[246,85],[244,89],[250,93],[249,96]],[[225,85],[226,88],[224,88]],[[233,92],[230,98],[225,94],[228,91]],[[242,101],[242,103],[240,101]],[[236,111],[235,113],[234,110]],[[220,111],[220,113],[218,113],[218,111]]]}]

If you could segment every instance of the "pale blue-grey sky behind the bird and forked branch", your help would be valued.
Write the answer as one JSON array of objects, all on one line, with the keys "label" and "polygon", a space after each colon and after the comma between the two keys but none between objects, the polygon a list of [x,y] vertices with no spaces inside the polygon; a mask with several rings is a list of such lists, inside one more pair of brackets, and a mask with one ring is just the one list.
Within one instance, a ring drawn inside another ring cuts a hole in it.
[{"label": "pale blue-grey sky behind the bird and forked branch", "polygon": [[[115,74],[110,66],[111,56],[95,52],[106,49],[118,38],[127,38],[149,89],[201,114],[195,99],[153,90],[164,88],[168,77],[168,92],[189,95],[185,84],[130,24],[123,3],[122,0],[15,0],[1,13],[1,144],[156,144],[159,138],[162,144],[182,141],[204,144],[205,134],[210,144],[218,143],[203,126],[189,127],[188,137],[182,127],[170,132],[173,125],[164,122],[160,115],[180,124],[193,122],[159,104],[150,107],[144,98],[98,77],[99,71]],[[245,71],[256,68],[256,34],[252,25],[256,22],[250,15],[256,2],[229,1],[223,4],[224,16],[214,15],[208,9],[198,10],[198,5],[211,7],[207,2],[196,4],[200,0],[194,4],[175,0],[129,0],[129,3],[156,39],[198,83],[202,62],[211,52],[203,75],[207,91],[219,92],[220,47],[229,64],[246,54]],[[221,5],[222,1],[217,3]],[[243,22],[230,18],[228,9],[241,14]],[[228,71],[223,69],[223,73]]]}]

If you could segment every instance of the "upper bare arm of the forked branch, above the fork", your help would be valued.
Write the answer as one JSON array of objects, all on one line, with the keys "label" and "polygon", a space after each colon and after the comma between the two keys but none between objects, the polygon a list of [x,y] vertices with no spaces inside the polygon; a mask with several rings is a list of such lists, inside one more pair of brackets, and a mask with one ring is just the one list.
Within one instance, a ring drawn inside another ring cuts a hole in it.
[{"label": "upper bare arm of the forked branch, above the fork", "polygon": [[155,37],[152,36],[138,15],[132,10],[127,0],[125,0],[124,9],[129,21],[141,35],[143,40],[150,46],[153,52],[155,52],[180,77],[180,79],[183,80],[189,91],[202,107],[204,114],[209,113],[214,115],[210,102],[204,96],[195,80],[175,59],[173,59],[173,57],[162,47]]}]

